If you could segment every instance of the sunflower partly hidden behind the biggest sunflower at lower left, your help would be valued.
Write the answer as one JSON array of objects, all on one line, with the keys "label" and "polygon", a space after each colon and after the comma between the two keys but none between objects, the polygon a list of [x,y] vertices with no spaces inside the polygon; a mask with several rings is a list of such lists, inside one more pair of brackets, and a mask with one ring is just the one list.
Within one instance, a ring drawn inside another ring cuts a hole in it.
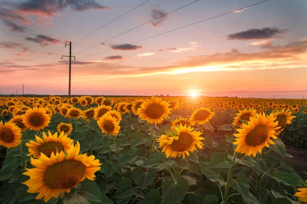
[{"label": "sunflower partly hidden behind the biggest sunflower at lower left", "polygon": [[35,158],[40,157],[40,153],[46,155],[47,157],[51,156],[51,153],[61,152],[65,149],[69,149],[74,140],[64,135],[62,132],[59,136],[58,133],[51,134],[48,131],[48,136],[45,132],[42,132],[43,139],[35,136],[36,141],[30,140],[29,143],[26,143],[29,148],[30,154],[27,156],[33,156]]}]

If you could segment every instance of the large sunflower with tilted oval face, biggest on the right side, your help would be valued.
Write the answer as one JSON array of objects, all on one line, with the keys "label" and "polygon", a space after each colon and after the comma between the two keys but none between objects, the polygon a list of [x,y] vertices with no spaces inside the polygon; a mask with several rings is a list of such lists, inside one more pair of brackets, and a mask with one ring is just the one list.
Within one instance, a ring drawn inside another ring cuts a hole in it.
[{"label": "large sunflower with tilted oval face, biggest on the right side", "polygon": [[243,129],[236,129],[239,133],[234,134],[237,138],[233,144],[238,145],[235,151],[245,156],[256,157],[257,151],[261,152],[265,146],[269,147],[268,143],[275,144],[271,140],[271,138],[277,139],[274,134],[279,127],[276,126],[278,121],[275,120],[273,114],[266,117],[265,113],[262,113],[251,117],[248,124],[242,124]]}]

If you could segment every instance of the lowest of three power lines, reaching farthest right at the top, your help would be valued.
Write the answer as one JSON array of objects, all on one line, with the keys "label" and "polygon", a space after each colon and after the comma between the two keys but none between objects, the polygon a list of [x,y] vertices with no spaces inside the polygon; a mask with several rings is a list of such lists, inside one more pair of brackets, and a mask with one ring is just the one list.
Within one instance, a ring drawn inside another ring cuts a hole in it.
[{"label": "lowest of three power lines, reaching farthest right at the top", "polygon": [[242,9],[245,9],[245,8],[248,8],[248,7],[252,7],[252,6],[255,6],[255,5],[257,5],[257,4],[261,4],[261,3],[264,3],[264,2],[268,2],[268,1],[269,1],[269,0],[265,0],[265,1],[262,1],[262,2],[258,2],[258,3],[256,3],[256,4],[252,4],[252,5],[249,5],[249,6],[240,8],[240,9],[236,9],[236,10],[229,11],[229,12],[227,12],[227,13],[223,13],[223,14],[220,14],[220,15],[217,15],[217,16],[213,16],[213,17],[210,17],[210,18],[207,18],[207,19],[198,21],[198,22],[194,22],[194,23],[191,23],[191,24],[188,24],[188,25],[184,25],[183,27],[180,27],[180,28],[177,28],[177,29],[173,29],[173,30],[170,30],[170,31],[167,31],[167,32],[164,32],[164,33],[160,33],[160,34],[158,34],[158,35],[154,35],[154,36],[151,36],[151,37],[148,37],[148,38],[144,38],[144,39],[142,39],[142,40],[138,40],[138,41],[135,41],[135,42],[127,43],[127,44],[124,44],[124,45],[121,45],[121,46],[118,46],[118,47],[114,47],[114,48],[112,48],[112,49],[108,49],[108,50],[105,50],[105,51],[100,52],[100,53],[97,53],[97,54],[93,54],[93,55],[89,55],[89,56],[80,58],[79,60],[84,59],[84,58],[88,58],[88,57],[92,57],[92,56],[95,56],[95,55],[99,55],[99,54],[102,54],[102,53],[106,53],[106,52],[109,52],[109,51],[111,51],[111,50],[113,50],[113,49],[118,49],[118,48],[120,48],[120,47],[124,47],[124,46],[127,46],[127,45],[135,44],[135,43],[137,43],[137,42],[141,42],[141,41],[143,41],[143,40],[147,40],[147,39],[150,39],[150,38],[154,38],[154,37],[157,37],[157,36],[166,34],[166,33],[170,33],[170,32],[173,32],[173,31],[177,31],[177,30],[179,30],[179,29],[183,29],[183,28],[189,27],[189,26],[194,25],[194,24],[198,24],[198,23],[201,23],[201,22],[204,22],[204,21],[207,21],[207,20],[211,20],[211,19],[213,19],[213,18],[217,18],[217,17],[220,17],[220,16],[224,16],[224,15],[227,15],[227,14],[229,14],[229,13],[233,13],[233,12],[235,12],[235,11],[242,10]]}]

